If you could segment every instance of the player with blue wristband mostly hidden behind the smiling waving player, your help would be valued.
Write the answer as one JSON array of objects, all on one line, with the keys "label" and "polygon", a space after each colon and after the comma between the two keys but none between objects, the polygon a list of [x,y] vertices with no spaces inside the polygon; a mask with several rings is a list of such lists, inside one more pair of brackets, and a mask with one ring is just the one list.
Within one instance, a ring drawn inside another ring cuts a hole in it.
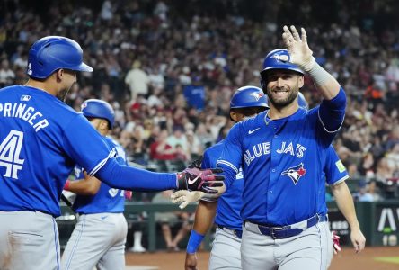
[{"label": "player with blue wristband mostly hidden behind the smiling waving player", "polygon": [[[230,119],[238,122],[268,109],[267,99],[259,87],[244,86],[235,91],[230,101]],[[224,140],[208,148],[204,152],[201,166],[213,164],[223,149]],[[187,245],[185,269],[197,269],[195,252],[204,235],[212,226],[216,215],[217,237],[215,238],[209,259],[209,269],[240,269],[240,246],[242,223],[240,218],[241,194],[244,177],[240,171],[235,175],[235,181],[228,193],[224,193],[218,203],[202,200],[195,214],[194,227]]]}]

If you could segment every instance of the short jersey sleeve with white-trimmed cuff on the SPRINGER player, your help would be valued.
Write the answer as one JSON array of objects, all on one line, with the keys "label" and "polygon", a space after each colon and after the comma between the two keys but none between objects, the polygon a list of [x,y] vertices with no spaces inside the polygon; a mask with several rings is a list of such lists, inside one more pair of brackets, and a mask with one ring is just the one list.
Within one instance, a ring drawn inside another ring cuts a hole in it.
[{"label": "short jersey sleeve with white-trimmed cuff on the SPRINGER player", "polygon": [[63,150],[89,175],[94,175],[109,158],[115,156],[115,151],[83,114],[76,115],[64,128]]}]

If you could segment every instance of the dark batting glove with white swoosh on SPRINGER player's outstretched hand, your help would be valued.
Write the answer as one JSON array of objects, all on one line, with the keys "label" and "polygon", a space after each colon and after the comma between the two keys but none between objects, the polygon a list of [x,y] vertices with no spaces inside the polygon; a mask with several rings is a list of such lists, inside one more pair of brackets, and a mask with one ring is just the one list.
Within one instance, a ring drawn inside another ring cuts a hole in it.
[{"label": "dark batting glove with white swoosh on SPRINGER player's outstretched hand", "polygon": [[217,190],[211,187],[223,185],[225,177],[223,175],[215,175],[220,173],[223,173],[223,170],[220,168],[186,168],[182,173],[177,173],[177,189],[217,193]]}]

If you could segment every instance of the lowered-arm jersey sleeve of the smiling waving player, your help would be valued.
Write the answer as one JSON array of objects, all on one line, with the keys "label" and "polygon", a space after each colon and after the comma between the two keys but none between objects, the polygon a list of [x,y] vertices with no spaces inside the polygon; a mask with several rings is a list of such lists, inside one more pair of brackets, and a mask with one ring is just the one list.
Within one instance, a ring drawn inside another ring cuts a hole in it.
[{"label": "lowered-arm jersey sleeve of the smiling waving player", "polygon": [[238,174],[244,156],[241,147],[241,127],[242,125],[237,123],[228,132],[222,154],[217,160],[217,166],[223,169],[223,174],[225,175],[226,189],[233,184],[235,175]]}]

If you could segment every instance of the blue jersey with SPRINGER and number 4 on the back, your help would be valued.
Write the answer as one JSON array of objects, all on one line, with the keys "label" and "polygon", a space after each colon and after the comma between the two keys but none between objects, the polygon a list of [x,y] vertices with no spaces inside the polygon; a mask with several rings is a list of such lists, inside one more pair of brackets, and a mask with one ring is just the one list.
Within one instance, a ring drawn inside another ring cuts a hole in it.
[{"label": "blue jersey with SPRINGER and number 4 on the back", "polygon": [[0,211],[59,216],[75,163],[95,174],[114,152],[81,113],[37,88],[0,90]]}]

